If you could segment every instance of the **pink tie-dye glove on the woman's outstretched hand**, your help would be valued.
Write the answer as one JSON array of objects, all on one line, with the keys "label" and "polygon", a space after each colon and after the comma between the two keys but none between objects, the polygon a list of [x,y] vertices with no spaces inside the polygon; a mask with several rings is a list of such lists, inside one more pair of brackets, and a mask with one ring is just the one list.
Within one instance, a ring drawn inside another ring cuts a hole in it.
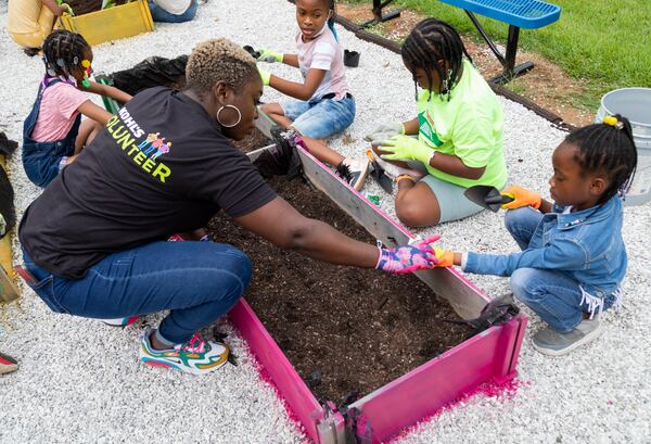
[{"label": "pink tie-dye glove on the woman's outstretched hand", "polygon": [[411,245],[398,245],[395,249],[380,249],[380,258],[375,269],[403,275],[417,270],[431,269],[436,266],[436,256],[431,245],[439,239],[431,236]]}]

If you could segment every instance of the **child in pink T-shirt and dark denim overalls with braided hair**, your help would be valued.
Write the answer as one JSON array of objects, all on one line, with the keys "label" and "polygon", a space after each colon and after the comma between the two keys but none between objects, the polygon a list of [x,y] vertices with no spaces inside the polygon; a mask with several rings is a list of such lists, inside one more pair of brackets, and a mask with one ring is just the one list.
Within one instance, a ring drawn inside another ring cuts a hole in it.
[{"label": "child in pink T-shirt and dark denim overalls with braided hair", "polygon": [[[90,81],[92,50],[79,34],[56,30],[43,41],[46,76],[23,125],[23,166],[29,180],[46,187],[94,139],[111,113],[82,91],[127,102],[131,96]],[[88,117],[81,122],[81,114]]]}]

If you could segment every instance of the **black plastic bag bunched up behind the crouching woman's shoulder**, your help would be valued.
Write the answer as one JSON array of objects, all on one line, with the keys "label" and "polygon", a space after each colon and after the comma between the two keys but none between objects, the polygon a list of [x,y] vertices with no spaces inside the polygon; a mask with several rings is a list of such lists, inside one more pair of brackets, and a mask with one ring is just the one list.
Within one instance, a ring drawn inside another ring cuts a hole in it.
[{"label": "black plastic bag bunched up behind the crouching woman's shoulder", "polygon": [[131,96],[143,89],[159,86],[181,89],[186,86],[187,64],[188,55],[179,55],[176,59],[153,55],[129,69],[117,71],[110,77],[113,79],[113,86]]}]

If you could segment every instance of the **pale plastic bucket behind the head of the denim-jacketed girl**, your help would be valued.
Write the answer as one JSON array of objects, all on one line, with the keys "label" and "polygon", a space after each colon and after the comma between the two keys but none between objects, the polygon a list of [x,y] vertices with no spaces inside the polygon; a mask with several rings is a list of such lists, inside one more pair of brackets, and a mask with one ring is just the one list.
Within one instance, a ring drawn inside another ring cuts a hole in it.
[{"label": "pale plastic bucket behind the head of the denim-jacketed girl", "polygon": [[622,88],[607,93],[601,98],[595,123],[612,114],[628,118],[638,152],[638,166],[626,194],[626,205],[643,205],[651,202],[651,88]]}]

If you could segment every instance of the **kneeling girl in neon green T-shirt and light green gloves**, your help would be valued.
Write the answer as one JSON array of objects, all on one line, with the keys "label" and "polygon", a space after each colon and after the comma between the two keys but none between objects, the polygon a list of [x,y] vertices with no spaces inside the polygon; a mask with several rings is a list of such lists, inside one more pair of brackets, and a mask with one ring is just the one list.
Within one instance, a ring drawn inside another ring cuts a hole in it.
[{"label": "kneeling girl in neon green T-shirt and light green gloves", "polygon": [[422,88],[419,94],[417,87],[418,117],[367,135],[379,162],[396,176],[398,218],[425,227],[478,213],[463,191],[507,182],[501,103],[450,25],[422,21],[401,53],[414,87]]}]

